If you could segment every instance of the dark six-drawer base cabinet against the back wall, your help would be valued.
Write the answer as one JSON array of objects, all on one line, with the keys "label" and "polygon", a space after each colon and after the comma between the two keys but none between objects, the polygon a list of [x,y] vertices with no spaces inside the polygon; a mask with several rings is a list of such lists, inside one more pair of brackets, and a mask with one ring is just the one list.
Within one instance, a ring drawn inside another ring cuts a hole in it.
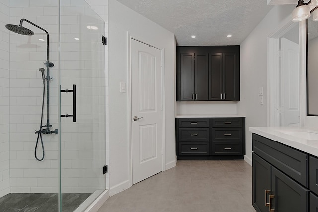
[{"label": "dark six-drawer base cabinet against the back wall", "polygon": [[176,118],[176,155],[182,159],[243,159],[245,118]]}]

